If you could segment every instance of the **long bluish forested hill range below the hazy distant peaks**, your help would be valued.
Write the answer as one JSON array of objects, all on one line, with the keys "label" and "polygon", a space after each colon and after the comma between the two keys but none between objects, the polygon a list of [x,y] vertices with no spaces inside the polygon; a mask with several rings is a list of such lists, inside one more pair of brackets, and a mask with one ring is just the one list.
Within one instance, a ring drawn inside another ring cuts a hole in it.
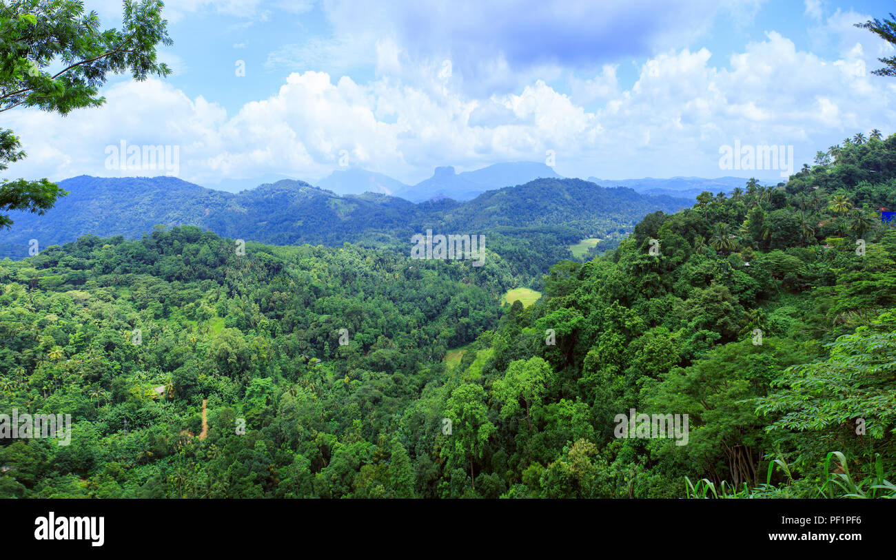
[{"label": "long bluish forested hill range below the hazy distant peaks", "polygon": [[564,246],[582,237],[630,231],[651,211],[676,211],[690,203],[626,188],[605,189],[576,179],[539,179],[489,191],[468,202],[419,204],[384,194],[338,196],[292,180],[240,194],[212,191],[172,177],[82,176],[60,186],[70,194],[46,215],[13,212],[13,228],[0,233],[0,257],[27,256],[30,239],[46,247],[87,234],[137,238],[157,224],[195,225],[223,237],[275,245],[354,242],[401,247],[426,228],[436,233],[480,234],[502,226],[549,226],[563,228],[551,243]]}]

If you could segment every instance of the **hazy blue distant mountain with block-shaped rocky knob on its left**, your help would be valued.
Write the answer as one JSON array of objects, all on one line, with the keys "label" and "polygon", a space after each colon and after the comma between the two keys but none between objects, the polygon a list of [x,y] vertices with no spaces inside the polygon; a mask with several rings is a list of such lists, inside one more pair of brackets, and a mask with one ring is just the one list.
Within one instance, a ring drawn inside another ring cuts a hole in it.
[{"label": "hazy blue distant mountain with block-shaped rocky knob on its left", "polygon": [[553,168],[534,161],[496,163],[487,168],[463,173],[456,173],[454,168],[446,166],[435,168],[433,177],[417,185],[407,186],[394,194],[411,202],[444,198],[468,201],[489,190],[522,185],[541,177],[560,178]]}]

